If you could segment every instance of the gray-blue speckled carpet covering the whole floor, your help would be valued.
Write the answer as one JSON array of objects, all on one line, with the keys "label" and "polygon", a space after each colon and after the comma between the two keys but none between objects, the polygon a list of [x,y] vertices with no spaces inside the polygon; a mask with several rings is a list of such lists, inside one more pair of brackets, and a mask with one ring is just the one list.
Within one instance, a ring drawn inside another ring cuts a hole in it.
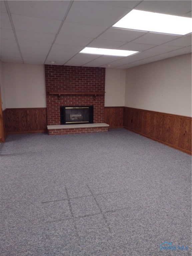
[{"label": "gray-blue speckled carpet covering the whole floor", "polygon": [[9,135],[0,155],[0,255],[191,255],[190,155],[126,129]]}]

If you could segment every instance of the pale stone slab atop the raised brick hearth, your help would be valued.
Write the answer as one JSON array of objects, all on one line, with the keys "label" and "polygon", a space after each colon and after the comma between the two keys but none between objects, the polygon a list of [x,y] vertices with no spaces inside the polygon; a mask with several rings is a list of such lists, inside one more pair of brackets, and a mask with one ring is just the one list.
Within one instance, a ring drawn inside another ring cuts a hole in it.
[{"label": "pale stone slab atop the raised brick hearth", "polygon": [[109,124],[97,123],[97,124],[47,125],[47,129],[48,130],[53,130],[53,129],[71,129],[71,128],[91,128],[91,127],[109,127]]}]

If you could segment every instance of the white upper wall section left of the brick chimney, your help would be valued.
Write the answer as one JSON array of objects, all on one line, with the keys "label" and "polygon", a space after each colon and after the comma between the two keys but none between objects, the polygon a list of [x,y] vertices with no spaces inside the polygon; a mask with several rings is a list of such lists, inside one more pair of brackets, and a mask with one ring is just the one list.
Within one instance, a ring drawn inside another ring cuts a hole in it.
[{"label": "white upper wall section left of the brick chimney", "polygon": [[3,63],[6,108],[46,107],[44,65]]}]

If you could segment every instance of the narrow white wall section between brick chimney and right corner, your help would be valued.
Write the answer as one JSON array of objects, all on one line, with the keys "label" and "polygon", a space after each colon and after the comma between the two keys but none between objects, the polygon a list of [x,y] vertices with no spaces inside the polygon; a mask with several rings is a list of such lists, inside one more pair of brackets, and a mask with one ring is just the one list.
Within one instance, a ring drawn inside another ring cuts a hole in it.
[{"label": "narrow white wall section between brick chimney and right corner", "polygon": [[105,71],[105,107],[121,107],[125,105],[126,69],[110,69]]}]

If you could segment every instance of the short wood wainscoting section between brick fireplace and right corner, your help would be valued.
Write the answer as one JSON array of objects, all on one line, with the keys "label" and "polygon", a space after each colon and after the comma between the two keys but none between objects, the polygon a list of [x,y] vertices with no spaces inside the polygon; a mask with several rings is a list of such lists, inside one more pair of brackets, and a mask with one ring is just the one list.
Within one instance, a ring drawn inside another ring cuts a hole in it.
[{"label": "short wood wainscoting section between brick fireplace and right corner", "polygon": [[109,128],[123,127],[124,107],[105,107],[104,122],[109,124]]}]

